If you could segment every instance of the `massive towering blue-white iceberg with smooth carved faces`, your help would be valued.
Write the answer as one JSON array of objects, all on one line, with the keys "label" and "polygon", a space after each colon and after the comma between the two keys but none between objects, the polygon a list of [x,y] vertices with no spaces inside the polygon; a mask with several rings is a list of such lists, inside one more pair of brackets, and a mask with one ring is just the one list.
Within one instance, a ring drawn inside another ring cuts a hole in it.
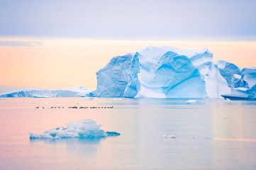
[{"label": "massive towering blue-white iceberg with smooth carved faces", "polygon": [[97,89],[88,96],[220,98],[233,88],[255,84],[252,72],[223,60],[213,62],[207,48],[145,47],[114,57],[96,76]]}]

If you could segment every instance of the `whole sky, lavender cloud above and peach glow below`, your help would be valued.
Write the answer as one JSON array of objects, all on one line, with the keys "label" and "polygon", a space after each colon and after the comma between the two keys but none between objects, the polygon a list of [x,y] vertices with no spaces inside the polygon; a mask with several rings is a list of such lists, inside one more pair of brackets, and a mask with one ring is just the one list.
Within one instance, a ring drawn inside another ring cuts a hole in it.
[{"label": "whole sky, lavender cloud above and peach glow below", "polygon": [[95,89],[112,57],[148,45],[208,47],[215,61],[256,66],[255,8],[255,0],[0,0],[0,85]]}]

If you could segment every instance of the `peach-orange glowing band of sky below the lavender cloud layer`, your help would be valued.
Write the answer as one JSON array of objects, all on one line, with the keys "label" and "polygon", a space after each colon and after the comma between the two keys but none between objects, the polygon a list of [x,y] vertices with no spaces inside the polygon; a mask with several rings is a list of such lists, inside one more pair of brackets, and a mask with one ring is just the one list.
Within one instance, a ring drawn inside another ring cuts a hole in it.
[{"label": "peach-orange glowing band of sky below the lavender cloud layer", "polygon": [[[30,44],[5,45],[6,42]],[[44,89],[82,85],[95,89],[96,72],[112,57],[136,52],[149,45],[196,50],[208,47],[213,52],[214,61],[226,60],[242,69],[256,65],[256,41],[1,38],[0,84]]]}]

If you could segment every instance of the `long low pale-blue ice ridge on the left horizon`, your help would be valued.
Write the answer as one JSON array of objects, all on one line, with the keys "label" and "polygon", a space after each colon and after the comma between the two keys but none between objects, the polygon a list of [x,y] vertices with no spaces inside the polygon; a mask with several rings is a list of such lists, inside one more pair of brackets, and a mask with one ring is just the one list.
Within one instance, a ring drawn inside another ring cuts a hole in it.
[{"label": "long low pale-blue ice ridge on the left horizon", "polygon": [[23,89],[21,91],[8,91],[4,94],[0,94],[0,97],[82,97],[87,96],[91,91],[94,90],[86,89],[84,86],[74,86],[69,89],[60,90]]}]

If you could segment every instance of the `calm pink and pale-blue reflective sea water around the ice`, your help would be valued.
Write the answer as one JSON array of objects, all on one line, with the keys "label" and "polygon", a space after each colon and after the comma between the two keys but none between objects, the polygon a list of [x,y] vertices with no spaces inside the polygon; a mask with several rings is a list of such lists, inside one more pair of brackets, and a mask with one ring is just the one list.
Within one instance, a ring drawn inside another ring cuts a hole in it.
[{"label": "calm pink and pale-blue reflective sea water around the ice", "polygon": [[[186,101],[6,98],[0,101],[0,169],[256,169],[256,101]],[[28,132],[87,118],[121,136],[29,139]]]}]

